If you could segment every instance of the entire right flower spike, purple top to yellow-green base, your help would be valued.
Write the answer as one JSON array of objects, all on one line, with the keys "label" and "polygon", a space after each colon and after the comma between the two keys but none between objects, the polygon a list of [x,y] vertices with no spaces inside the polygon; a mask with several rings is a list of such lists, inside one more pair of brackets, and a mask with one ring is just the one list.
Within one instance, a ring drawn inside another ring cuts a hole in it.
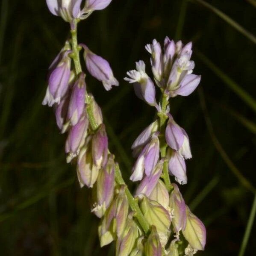
[{"label": "entire right flower spike, purple top to yellow-green base", "polygon": [[124,78],[133,83],[138,98],[156,107],[159,116],[132,144],[137,160],[130,179],[141,181],[135,195],[141,201],[145,218],[153,226],[147,255],[179,255],[179,232],[187,241],[186,255],[203,250],[206,243],[203,223],[185,205],[178,185],[170,183],[168,175],[169,172],[181,185],[187,183],[185,159],[192,157],[189,139],[174,121],[168,102],[177,95],[188,96],[200,82],[200,76],[192,74],[191,47],[191,42],[183,45],[168,37],[163,50],[155,39],[146,45],[151,55],[153,80],[162,92],[159,104],[154,82],[147,75],[143,61],[136,62],[136,70],[128,71]]}]

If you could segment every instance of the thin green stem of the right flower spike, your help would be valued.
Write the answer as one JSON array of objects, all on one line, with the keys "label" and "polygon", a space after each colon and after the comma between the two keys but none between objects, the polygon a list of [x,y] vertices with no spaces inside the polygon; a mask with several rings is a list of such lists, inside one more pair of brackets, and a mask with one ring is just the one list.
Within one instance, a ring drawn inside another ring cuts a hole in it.
[{"label": "thin green stem of the right flower spike", "polygon": [[[161,132],[160,153],[161,153],[162,158],[165,158],[166,148],[167,148],[167,144],[165,142],[165,121],[168,118],[165,115],[165,110],[166,110],[167,106],[168,106],[168,95],[166,95],[164,93],[163,97],[162,97],[162,103],[161,103],[162,112],[159,113],[159,123],[160,123],[160,132]],[[168,192],[170,192],[171,189],[172,189],[172,185],[171,185],[171,180],[170,180],[170,176],[169,176],[169,173],[168,173],[168,162],[167,162],[167,160],[165,160],[164,166],[163,166],[163,179],[165,181],[165,186],[166,186]]]}]

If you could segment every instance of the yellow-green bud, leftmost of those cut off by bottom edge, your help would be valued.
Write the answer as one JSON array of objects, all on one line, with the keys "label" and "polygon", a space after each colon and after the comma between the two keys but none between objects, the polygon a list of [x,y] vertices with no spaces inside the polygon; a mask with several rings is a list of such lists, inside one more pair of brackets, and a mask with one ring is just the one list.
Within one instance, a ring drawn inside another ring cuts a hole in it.
[{"label": "yellow-green bud, leftmost of those cut off by bottom edge", "polygon": [[138,227],[132,220],[133,212],[128,215],[127,224],[122,235],[116,242],[116,255],[128,256],[134,247],[136,238],[138,237]]}]

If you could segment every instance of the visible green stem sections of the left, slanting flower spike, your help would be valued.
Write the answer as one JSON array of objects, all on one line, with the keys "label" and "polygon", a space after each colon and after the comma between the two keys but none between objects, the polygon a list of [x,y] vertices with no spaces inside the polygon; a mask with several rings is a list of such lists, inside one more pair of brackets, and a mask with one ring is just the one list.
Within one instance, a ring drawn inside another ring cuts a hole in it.
[{"label": "visible green stem sections of the left, slanting flower spike", "polygon": [[[71,57],[74,60],[74,66],[76,74],[82,72],[82,67],[79,58],[79,46],[77,44],[77,20],[74,21],[74,29],[71,29],[71,36],[72,36],[72,54]],[[91,105],[91,97],[86,93],[85,102],[87,103],[86,111],[88,115],[89,122],[91,124],[91,128],[95,131],[98,128],[98,124],[94,118],[93,108]],[[127,185],[124,182],[122,177],[119,165],[116,165],[115,168],[115,180],[119,185],[125,185],[125,194],[127,196],[129,206],[131,207],[132,211],[135,211],[135,217],[137,218],[139,224],[141,225],[142,229],[144,230],[145,234],[149,231],[149,224],[147,223],[146,219],[144,218],[141,209],[138,206],[137,201],[132,196],[131,192],[129,191]]]}]

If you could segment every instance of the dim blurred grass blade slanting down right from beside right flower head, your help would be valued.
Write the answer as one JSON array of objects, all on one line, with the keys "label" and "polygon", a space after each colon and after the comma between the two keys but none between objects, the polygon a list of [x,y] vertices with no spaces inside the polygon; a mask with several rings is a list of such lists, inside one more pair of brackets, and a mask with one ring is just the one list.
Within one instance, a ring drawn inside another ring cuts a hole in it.
[{"label": "dim blurred grass blade slanting down right from beside right flower head", "polygon": [[219,77],[232,91],[235,92],[248,106],[256,112],[256,101],[244,89],[241,88],[235,81],[228,77],[221,69],[219,69],[211,60],[209,60],[199,50],[196,51],[197,57]]}]

